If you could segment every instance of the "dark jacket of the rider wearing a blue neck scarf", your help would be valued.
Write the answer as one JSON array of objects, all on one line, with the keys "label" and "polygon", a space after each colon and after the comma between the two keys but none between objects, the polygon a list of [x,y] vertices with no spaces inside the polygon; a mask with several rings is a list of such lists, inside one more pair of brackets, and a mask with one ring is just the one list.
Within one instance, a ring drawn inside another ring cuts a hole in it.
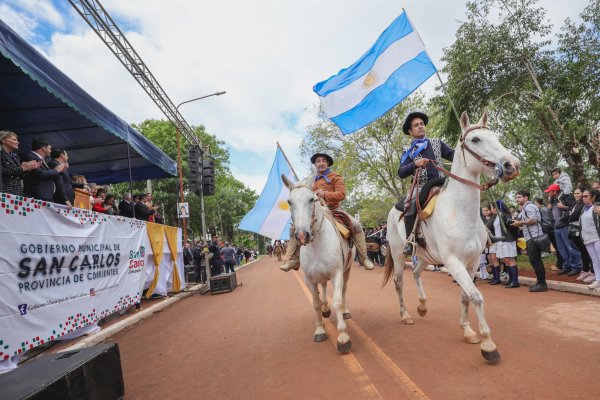
[{"label": "dark jacket of the rider wearing a blue neck scarf", "polygon": [[[429,139],[427,138],[428,144],[427,147],[421,153],[413,157],[409,155],[406,160],[400,163],[400,168],[398,168],[398,176],[400,178],[406,178],[411,176],[415,172],[415,161],[420,158],[428,158],[430,160],[436,160],[441,164],[442,158],[448,161],[452,161],[454,159],[454,149],[450,148],[446,143],[442,142],[440,139]],[[414,142],[413,142],[414,143]],[[404,149],[402,152],[402,156],[407,151],[411,151],[413,148],[413,143],[410,146]],[[402,156],[400,159],[402,159]],[[441,178],[445,175],[435,169],[435,167],[429,163],[425,168],[421,170],[421,176],[419,177],[419,186],[425,184],[425,182],[434,179]]]}]

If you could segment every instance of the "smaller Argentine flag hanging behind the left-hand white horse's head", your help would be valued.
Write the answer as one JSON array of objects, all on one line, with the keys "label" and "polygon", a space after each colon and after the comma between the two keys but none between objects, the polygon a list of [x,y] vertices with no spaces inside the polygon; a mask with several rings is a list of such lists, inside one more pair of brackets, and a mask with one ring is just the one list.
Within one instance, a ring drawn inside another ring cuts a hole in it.
[{"label": "smaller Argentine flag hanging behind the left-hand white horse's head", "polygon": [[240,222],[239,228],[256,232],[271,239],[290,238],[291,214],[287,203],[290,191],[281,181],[281,174],[292,182],[297,179],[279,146],[269,179],[263,188],[254,208]]}]

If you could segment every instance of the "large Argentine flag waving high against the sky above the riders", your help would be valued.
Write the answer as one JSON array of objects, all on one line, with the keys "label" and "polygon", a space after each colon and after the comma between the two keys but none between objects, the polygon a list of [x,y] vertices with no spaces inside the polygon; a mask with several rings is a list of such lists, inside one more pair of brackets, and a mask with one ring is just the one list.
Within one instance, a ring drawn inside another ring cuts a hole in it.
[{"label": "large Argentine flag waving high against the sky above the riders", "polygon": [[357,62],[317,83],[313,91],[325,114],[348,134],[382,116],[435,72],[403,12]]}]

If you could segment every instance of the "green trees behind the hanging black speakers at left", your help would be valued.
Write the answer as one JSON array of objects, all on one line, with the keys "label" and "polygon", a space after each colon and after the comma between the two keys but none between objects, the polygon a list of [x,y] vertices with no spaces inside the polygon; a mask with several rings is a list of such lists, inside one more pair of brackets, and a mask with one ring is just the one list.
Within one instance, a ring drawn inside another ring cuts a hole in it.
[{"label": "green trees behind the hanging black speakers at left", "polygon": [[[169,157],[177,160],[177,132],[173,124],[162,120],[146,120],[139,125],[135,125],[135,128]],[[203,126],[197,126],[193,129],[204,146],[205,152],[215,160],[215,194],[204,196],[207,233],[218,233],[222,239],[233,243],[239,238],[244,243],[255,247],[258,245],[257,239],[252,238],[252,234],[244,234],[238,231],[236,227],[244,215],[254,206],[257,199],[256,193],[231,174],[229,170],[229,151],[225,147],[225,143],[208,134]],[[183,136],[181,137],[181,164],[185,201],[189,203],[190,208],[188,236],[200,238],[202,233],[200,198],[193,194],[188,185],[188,151]],[[134,182],[133,192],[146,191],[145,187],[145,182]],[[170,225],[181,226],[180,220],[177,218],[178,179],[153,180],[152,189],[154,203],[164,206],[165,222]],[[112,190],[115,193],[122,194],[129,190],[129,184],[113,185]]]}]

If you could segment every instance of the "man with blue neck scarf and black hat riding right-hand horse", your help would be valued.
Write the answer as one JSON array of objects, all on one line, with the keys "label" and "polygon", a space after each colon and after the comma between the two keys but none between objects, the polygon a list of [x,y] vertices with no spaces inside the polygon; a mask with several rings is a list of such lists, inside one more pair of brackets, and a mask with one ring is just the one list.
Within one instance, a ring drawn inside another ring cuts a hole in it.
[{"label": "man with blue neck scarf and black hat riding right-hand horse", "polygon": [[[429,190],[433,186],[441,186],[444,183],[445,175],[438,171],[429,161],[435,161],[441,164],[442,158],[448,161],[454,159],[454,149],[444,143],[441,139],[428,139],[425,127],[429,122],[429,117],[422,112],[413,112],[408,114],[402,130],[406,135],[413,137],[413,141],[402,153],[400,158],[400,168],[398,168],[398,176],[406,178],[414,175],[417,168],[420,169],[420,175],[417,179],[417,184],[412,189],[412,193],[408,193],[407,202],[410,199],[410,207],[404,216],[404,226],[406,228],[406,237],[409,237],[415,220],[417,218],[416,207],[416,190],[418,186],[419,193],[421,190]],[[427,185],[426,185],[427,184]],[[405,206],[406,207],[406,206]],[[411,255],[413,253],[412,243],[407,241],[404,247],[404,254]]]}]

